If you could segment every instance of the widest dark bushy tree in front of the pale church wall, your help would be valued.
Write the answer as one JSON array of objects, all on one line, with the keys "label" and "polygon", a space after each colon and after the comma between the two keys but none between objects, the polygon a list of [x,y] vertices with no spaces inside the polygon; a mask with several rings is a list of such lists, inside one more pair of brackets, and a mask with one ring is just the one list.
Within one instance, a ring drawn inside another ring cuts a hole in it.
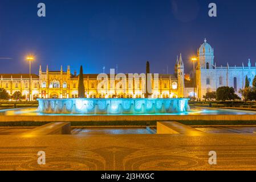
[{"label": "widest dark bushy tree in front of the pale church wall", "polygon": [[241,99],[235,94],[233,87],[221,86],[217,89],[216,100],[217,101],[227,101],[227,100],[238,100]]}]

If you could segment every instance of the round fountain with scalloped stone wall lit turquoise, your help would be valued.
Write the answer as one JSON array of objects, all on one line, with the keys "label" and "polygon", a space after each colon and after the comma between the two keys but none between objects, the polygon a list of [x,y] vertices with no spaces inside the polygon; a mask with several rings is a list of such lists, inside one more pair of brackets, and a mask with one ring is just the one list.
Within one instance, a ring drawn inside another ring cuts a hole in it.
[{"label": "round fountain with scalloped stone wall lit turquoise", "polygon": [[44,114],[160,114],[189,109],[189,98],[38,99]]}]

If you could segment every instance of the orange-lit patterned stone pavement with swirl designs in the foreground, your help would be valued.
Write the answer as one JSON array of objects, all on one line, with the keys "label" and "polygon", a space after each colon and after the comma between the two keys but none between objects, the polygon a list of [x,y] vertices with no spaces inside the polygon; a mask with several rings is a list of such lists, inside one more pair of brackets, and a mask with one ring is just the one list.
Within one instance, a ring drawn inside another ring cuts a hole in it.
[{"label": "orange-lit patterned stone pavement with swirl designs in the foreground", "polygon": [[[46,165],[37,163],[38,151]],[[217,165],[208,163],[209,151]],[[256,170],[256,135],[0,135],[0,169]]]}]

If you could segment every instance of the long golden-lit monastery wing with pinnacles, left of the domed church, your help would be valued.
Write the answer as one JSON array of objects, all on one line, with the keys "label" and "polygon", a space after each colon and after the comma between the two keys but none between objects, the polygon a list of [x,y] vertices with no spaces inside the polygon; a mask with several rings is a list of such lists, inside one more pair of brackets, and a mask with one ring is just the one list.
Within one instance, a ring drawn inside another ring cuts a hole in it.
[{"label": "long golden-lit monastery wing with pinnacles, left of the domed church", "polygon": [[[184,97],[184,65],[182,57],[176,65],[176,73],[160,74],[157,80],[152,76],[152,98],[178,98]],[[135,77],[131,82],[127,79],[124,86],[116,86],[120,80],[112,81],[108,76],[108,88],[97,88],[101,82],[97,74],[84,74],[85,95],[87,98],[143,98],[143,82]],[[128,75],[125,75],[128,78]],[[0,88],[4,88],[12,95],[20,91],[29,99],[29,74],[1,74]],[[131,84],[132,83],[132,84]],[[39,75],[31,75],[31,98],[76,98],[78,97],[78,76],[70,72],[70,66],[66,71],[49,71],[48,66],[43,72],[40,66]]]}]

